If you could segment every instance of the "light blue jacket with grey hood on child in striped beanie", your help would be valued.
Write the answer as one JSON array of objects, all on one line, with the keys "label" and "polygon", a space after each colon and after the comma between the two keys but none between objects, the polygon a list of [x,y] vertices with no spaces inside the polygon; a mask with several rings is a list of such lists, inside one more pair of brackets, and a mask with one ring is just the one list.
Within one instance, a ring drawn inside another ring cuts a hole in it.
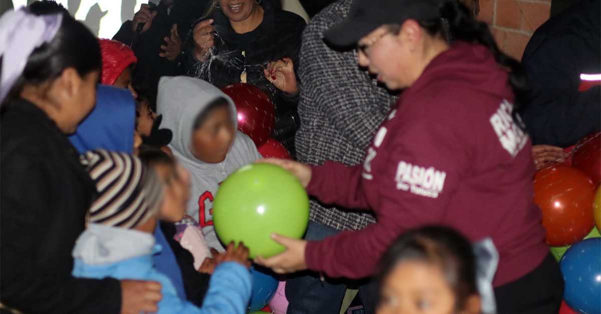
[{"label": "light blue jacket with grey hood on child in striped beanie", "polygon": [[160,251],[145,232],[90,224],[73,249],[73,276],[101,279],[151,280],[162,285],[158,314],[245,314],[251,297],[251,275],[240,264],[219,265],[209,282],[203,307],[182,300],[165,274],[154,267],[152,255]]}]

